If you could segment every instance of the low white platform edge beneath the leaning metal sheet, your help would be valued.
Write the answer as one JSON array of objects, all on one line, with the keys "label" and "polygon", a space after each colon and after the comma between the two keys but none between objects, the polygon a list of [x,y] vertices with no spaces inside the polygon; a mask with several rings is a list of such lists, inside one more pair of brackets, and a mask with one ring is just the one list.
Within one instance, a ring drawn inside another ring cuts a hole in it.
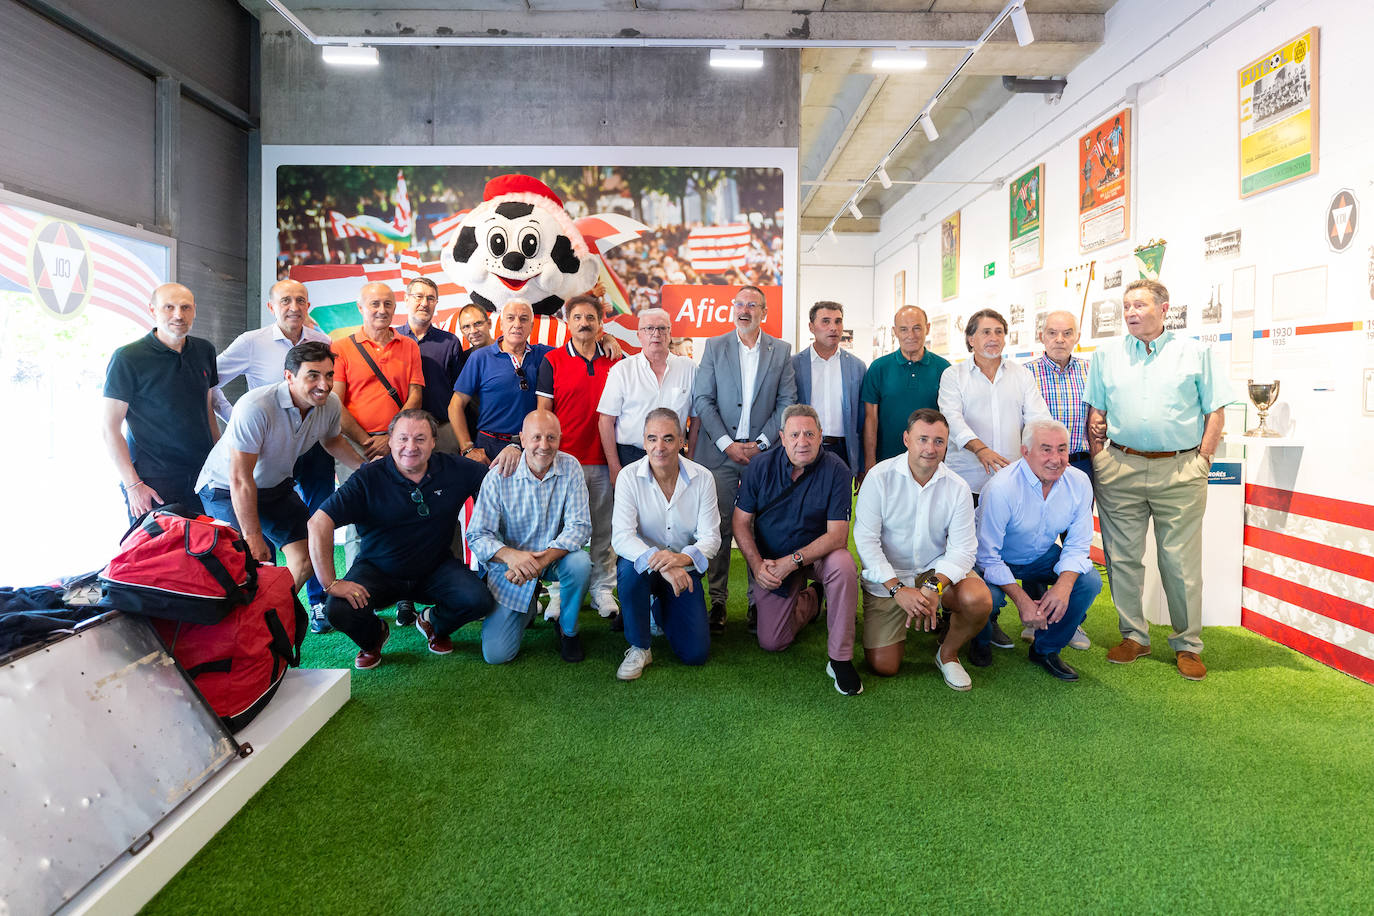
[{"label": "low white platform edge beneath the leaning metal sheet", "polygon": [[348,702],[348,669],[293,669],[253,724],[235,735],[253,753],[168,814],[137,856],[125,853],[59,912],[137,913]]}]

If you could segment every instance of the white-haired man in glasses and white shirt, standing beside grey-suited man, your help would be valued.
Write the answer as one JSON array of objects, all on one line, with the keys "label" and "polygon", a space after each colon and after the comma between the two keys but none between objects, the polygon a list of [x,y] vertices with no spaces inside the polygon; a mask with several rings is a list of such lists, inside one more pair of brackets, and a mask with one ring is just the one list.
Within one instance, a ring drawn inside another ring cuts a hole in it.
[{"label": "white-haired man in glasses and white shirt, standing beside grey-suited man", "polygon": [[[665,407],[677,413],[683,428],[687,417],[695,416],[691,387],[697,364],[691,357],[669,352],[673,334],[672,317],[664,309],[644,309],[639,313],[639,346],[610,367],[606,387],[596,405],[598,430],[611,486],[627,464],[644,457],[644,420],[654,408]],[[697,450],[698,424],[692,423],[687,435],[688,457]]]}]

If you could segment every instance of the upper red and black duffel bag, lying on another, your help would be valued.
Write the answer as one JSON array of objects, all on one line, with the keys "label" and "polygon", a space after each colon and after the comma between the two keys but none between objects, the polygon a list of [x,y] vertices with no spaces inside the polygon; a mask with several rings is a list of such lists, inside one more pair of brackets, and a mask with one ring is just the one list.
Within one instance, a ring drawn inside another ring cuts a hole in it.
[{"label": "upper red and black duffel bag, lying on another", "polygon": [[253,600],[257,560],[236,530],[172,508],[144,515],[100,571],[100,604],[129,614],[214,623]]}]

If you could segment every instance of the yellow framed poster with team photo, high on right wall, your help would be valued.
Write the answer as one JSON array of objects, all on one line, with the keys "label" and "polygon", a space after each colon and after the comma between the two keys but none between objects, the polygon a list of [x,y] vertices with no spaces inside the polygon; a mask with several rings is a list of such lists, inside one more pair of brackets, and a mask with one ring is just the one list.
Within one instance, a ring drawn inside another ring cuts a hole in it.
[{"label": "yellow framed poster with team photo, high on right wall", "polygon": [[1318,33],[1249,62],[1241,87],[1241,198],[1316,174]]}]

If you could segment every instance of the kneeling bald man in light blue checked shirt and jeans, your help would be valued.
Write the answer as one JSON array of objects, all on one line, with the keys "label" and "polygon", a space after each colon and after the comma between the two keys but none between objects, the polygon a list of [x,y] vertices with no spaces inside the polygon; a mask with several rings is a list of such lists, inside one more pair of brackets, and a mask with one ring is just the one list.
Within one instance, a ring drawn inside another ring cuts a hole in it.
[{"label": "kneeling bald man in light blue checked shirt and jeans", "polygon": [[467,544],[482,563],[496,610],[482,621],[482,656],[502,665],[519,652],[534,619],[534,589],[558,578],[563,596],[559,654],[585,656],[577,636],[577,611],[587,593],[591,558],[583,545],[592,533],[587,481],[577,459],[558,450],[562,430],[550,411],[532,411],[519,434],[523,450],[515,471],[488,474],[482,482]]}]

